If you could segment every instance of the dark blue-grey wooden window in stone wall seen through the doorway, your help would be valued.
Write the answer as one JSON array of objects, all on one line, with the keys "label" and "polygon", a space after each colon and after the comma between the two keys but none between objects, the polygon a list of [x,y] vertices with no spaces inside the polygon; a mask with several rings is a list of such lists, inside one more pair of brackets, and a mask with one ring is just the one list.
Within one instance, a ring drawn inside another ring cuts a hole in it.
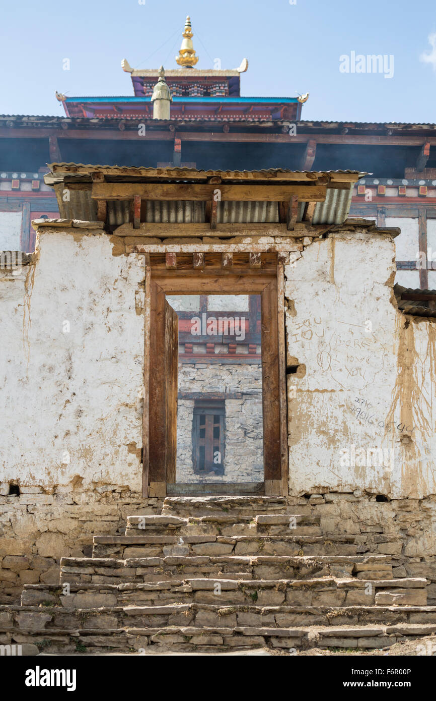
[{"label": "dark blue-grey wooden window in stone wall seen through the doorway", "polygon": [[197,400],[192,420],[192,465],[196,475],[224,475],[225,402]]}]

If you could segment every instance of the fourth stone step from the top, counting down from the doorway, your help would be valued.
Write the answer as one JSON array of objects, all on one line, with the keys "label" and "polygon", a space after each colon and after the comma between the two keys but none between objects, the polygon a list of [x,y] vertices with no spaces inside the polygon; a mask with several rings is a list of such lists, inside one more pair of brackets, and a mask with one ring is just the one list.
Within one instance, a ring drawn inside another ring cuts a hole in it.
[{"label": "fourth stone step from the top, counting down from the doorway", "polygon": [[[352,576],[360,580],[393,579],[391,555],[235,556],[232,543],[209,543],[214,555],[168,555],[127,559],[62,557],[60,583],[118,584],[171,578],[299,579]],[[195,546],[194,546],[195,547]],[[386,602],[388,603],[388,602]]]}]

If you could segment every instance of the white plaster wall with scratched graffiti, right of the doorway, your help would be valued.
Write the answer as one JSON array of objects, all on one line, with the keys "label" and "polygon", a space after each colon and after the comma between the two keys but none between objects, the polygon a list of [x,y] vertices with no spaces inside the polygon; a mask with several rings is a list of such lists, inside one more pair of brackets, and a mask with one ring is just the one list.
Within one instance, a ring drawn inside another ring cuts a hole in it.
[{"label": "white plaster wall with scratched graffiti, right of the doorway", "polygon": [[436,325],[391,302],[393,254],[387,237],[337,234],[285,268],[288,354],[306,366],[288,375],[291,494],[436,492]]}]

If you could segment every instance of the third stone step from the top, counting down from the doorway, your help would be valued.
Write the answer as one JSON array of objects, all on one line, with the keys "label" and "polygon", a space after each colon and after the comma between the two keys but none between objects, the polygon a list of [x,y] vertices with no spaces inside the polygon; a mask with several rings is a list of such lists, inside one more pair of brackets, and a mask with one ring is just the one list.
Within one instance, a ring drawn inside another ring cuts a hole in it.
[{"label": "third stone step from the top, counting down from the doorway", "polygon": [[356,555],[354,536],[94,536],[93,558],[167,555]]}]

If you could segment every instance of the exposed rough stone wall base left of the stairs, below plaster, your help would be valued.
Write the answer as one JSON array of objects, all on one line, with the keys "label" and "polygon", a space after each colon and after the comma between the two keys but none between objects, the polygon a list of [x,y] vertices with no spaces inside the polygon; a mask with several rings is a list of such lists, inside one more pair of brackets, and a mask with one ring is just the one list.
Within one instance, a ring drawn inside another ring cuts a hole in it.
[{"label": "exposed rough stone wall base left of the stairs, below plaster", "polygon": [[[27,480],[28,482],[31,480]],[[0,487],[0,604],[17,601],[24,584],[58,584],[61,557],[91,557],[92,537],[124,535],[127,516],[154,515],[162,499],[128,486],[80,479],[51,488]]]}]

